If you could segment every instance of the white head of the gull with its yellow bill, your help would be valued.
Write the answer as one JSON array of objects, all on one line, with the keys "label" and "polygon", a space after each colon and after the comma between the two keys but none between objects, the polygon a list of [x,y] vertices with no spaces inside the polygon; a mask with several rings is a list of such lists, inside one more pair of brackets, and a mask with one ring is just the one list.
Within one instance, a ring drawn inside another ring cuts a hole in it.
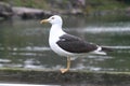
[{"label": "white head of the gull with its yellow bill", "polygon": [[49,17],[48,19],[42,19],[41,22],[40,22],[40,24],[43,24],[43,23],[50,23],[50,24],[52,24],[52,25],[61,25],[62,26],[62,24],[63,24],[63,20],[62,20],[62,17],[61,16],[58,16],[58,15],[53,15],[53,16],[51,16],[51,17]]}]

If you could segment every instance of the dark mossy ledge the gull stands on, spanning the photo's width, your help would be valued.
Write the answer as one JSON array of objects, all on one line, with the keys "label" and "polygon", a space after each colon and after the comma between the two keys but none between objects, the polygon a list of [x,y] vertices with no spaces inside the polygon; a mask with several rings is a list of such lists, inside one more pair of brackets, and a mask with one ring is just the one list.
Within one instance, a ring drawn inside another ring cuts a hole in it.
[{"label": "dark mossy ledge the gull stands on, spanning the photo's width", "polygon": [[130,72],[69,71],[62,74],[56,70],[4,68],[0,69],[0,81],[62,86],[130,86]]}]

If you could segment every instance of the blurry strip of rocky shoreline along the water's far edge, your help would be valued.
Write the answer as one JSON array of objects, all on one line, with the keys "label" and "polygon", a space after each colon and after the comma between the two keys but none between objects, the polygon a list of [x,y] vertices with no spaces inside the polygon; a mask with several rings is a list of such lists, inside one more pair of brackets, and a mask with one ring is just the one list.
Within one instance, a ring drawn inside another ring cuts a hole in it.
[{"label": "blurry strip of rocky shoreline along the water's far edge", "polygon": [[107,16],[107,15],[126,15],[130,16],[130,8],[123,9],[112,9],[112,10],[100,10],[100,9],[80,9],[72,8],[69,10],[47,10],[47,9],[36,9],[26,6],[12,6],[9,3],[0,2],[1,12],[0,17],[2,19],[10,19],[17,16],[22,19],[36,19],[44,18],[54,14],[60,15],[80,15],[80,16]]}]

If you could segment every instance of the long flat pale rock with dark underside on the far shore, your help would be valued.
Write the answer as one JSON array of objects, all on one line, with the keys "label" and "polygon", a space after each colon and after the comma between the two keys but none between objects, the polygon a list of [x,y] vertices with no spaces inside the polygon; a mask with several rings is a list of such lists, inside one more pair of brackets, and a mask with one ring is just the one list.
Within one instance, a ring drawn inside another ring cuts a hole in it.
[{"label": "long flat pale rock with dark underside on the far shore", "polygon": [[17,8],[17,6],[14,6],[12,9],[15,15],[20,16],[22,19],[43,18],[52,15],[51,12],[39,9]]}]

